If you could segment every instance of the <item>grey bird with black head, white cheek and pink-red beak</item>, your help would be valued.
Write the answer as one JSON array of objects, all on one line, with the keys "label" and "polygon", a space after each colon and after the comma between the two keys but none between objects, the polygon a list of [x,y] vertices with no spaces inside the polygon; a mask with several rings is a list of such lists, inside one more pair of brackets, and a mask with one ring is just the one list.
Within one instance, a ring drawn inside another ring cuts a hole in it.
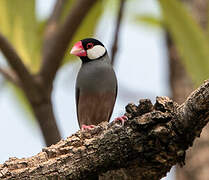
[{"label": "grey bird with black head, white cheek and pink-red beak", "polygon": [[[118,83],[107,49],[99,40],[85,38],[75,43],[70,53],[82,61],[75,90],[79,127],[87,130],[101,122],[109,122]],[[126,118],[116,119],[123,121]]]}]

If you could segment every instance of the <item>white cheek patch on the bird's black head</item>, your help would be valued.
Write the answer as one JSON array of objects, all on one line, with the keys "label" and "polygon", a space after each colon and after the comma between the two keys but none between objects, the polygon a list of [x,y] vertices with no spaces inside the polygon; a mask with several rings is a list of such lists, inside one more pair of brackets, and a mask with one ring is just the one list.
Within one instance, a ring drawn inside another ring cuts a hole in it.
[{"label": "white cheek patch on the bird's black head", "polygon": [[89,59],[97,59],[103,56],[105,51],[106,50],[103,46],[96,45],[93,48],[87,50],[87,56]]}]

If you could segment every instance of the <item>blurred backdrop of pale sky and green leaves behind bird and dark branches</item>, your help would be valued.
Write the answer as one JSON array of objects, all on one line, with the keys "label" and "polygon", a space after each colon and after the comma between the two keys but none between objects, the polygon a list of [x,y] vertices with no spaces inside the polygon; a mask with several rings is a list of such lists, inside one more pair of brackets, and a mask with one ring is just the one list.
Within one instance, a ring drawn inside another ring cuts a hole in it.
[{"label": "blurred backdrop of pale sky and green leaves behind bird and dark branches", "polygon": [[[40,68],[44,28],[55,3],[56,0],[0,1],[0,31],[33,73]],[[75,1],[65,2],[60,21],[64,21],[73,3]],[[108,0],[95,3],[70,42],[69,50],[78,40],[95,37],[103,42],[112,56],[118,36],[114,69],[119,92],[111,120],[122,115],[129,102],[138,103],[141,98],[149,98],[154,103],[156,96],[169,96],[182,103],[195,87],[209,78],[208,7],[207,0]],[[121,18],[118,18],[119,12]],[[75,79],[81,62],[71,56],[69,50],[56,74],[52,91],[54,114],[62,138],[79,130]],[[3,55],[0,64],[8,67]],[[4,76],[0,79],[0,112],[0,163],[9,157],[32,156],[45,146],[26,97]],[[183,169],[177,167],[167,179],[192,177],[202,180],[209,177],[207,131],[202,137],[188,153],[186,166]]]}]

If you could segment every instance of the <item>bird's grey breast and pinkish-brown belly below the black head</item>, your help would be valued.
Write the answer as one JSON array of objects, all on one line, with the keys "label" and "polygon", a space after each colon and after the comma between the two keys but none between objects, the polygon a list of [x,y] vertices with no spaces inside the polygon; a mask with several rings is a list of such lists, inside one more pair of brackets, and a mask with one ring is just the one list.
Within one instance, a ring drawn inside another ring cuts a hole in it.
[{"label": "bird's grey breast and pinkish-brown belly below the black head", "polygon": [[108,61],[83,64],[76,81],[76,104],[80,127],[109,121],[117,95],[117,79]]}]

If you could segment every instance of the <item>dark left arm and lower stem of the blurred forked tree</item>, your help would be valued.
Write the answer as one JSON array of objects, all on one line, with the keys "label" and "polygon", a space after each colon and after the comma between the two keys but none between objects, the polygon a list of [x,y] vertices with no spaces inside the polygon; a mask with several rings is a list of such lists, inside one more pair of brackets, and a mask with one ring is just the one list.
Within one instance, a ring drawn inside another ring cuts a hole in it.
[{"label": "dark left arm and lower stem of the blurred forked tree", "polygon": [[[56,143],[61,139],[61,135],[56,125],[51,105],[51,93],[44,89],[38,78],[35,79],[36,77],[29,73],[21,58],[2,34],[0,34],[0,49],[19,79],[19,84],[33,108],[46,144]],[[12,78],[5,70],[1,69],[1,72],[7,78]],[[11,80],[14,79],[12,78]]]}]

